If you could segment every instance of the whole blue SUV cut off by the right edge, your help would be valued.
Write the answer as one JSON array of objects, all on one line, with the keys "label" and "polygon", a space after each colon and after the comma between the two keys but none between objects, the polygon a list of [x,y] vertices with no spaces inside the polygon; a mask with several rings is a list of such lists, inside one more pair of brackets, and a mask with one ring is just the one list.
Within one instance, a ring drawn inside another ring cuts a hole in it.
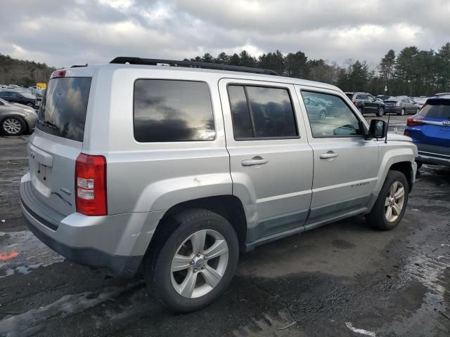
[{"label": "whole blue SUV cut off by the right edge", "polygon": [[450,166],[450,95],[428,98],[417,114],[406,119],[404,134],[418,147],[418,167]]}]

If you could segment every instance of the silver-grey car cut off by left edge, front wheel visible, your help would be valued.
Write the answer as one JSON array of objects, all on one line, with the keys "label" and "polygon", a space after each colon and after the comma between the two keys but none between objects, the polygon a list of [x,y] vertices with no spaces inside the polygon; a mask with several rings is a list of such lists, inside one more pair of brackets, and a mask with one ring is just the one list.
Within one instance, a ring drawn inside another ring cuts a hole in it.
[{"label": "silver-grey car cut off by left edge, front wheel visible", "polygon": [[6,136],[20,136],[34,130],[37,114],[31,107],[8,103],[0,98],[0,133]]}]

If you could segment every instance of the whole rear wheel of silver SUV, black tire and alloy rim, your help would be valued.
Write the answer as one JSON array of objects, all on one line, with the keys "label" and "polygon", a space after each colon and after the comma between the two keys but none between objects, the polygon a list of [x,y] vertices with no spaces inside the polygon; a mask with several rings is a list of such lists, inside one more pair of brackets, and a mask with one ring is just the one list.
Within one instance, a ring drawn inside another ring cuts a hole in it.
[{"label": "whole rear wheel of silver SUV, black tire and alloy rim", "polygon": [[144,260],[146,283],[174,312],[200,310],[217,300],[236,272],[239,244],[233,226],[205,209],[165,220],[166,234]]}]

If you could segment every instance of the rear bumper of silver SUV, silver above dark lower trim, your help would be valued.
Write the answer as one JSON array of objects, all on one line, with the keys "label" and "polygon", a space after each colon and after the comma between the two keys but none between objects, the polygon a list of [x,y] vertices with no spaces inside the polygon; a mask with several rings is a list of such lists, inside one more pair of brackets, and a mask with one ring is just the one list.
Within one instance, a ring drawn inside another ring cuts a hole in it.
[{"label": "rear bumper of silver SUV, silver above dark lower trim", "polygon": [[109,275],[132,277],[136,273],[153,235],[153,231],[146,232],[146,237],[140,235],[152,213],[64,216],[34,195],[27,178],[29,175],[20,184],[20,204],[28,227],[41,242],[68,260],[99,268]]}]

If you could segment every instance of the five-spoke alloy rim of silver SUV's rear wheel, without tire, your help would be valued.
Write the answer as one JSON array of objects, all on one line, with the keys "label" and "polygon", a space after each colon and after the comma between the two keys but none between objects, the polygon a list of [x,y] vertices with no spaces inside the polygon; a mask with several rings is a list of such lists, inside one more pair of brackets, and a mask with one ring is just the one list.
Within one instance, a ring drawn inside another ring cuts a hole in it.
[{"label": "five-spoke alloy rim of silver SUV's rear wheel, without tire", "polygon": [[172,258],[172,286],[185,298],[204,296],[219,284],[228,259],[228,244],[219,232],[195,232],[179,246]]}]

